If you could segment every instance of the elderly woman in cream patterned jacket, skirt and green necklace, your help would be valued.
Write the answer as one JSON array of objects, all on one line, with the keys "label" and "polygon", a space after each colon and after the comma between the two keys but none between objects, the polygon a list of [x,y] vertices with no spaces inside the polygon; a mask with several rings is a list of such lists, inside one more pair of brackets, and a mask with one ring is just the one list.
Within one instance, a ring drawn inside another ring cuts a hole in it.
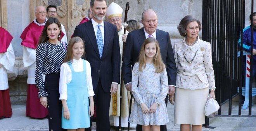
[{"label": "elderly woman in cream patterned jacket, skirt and green necklace", "polygon": [[181,124],[181,131],[202,130],[205,122],[204,107],[210,97],[215,99],[215,81],[211,58],[211,44],[200,40],[199,20],[185,16],[178,25],[185,37],[173,46],[177,67],[174,124]]}]

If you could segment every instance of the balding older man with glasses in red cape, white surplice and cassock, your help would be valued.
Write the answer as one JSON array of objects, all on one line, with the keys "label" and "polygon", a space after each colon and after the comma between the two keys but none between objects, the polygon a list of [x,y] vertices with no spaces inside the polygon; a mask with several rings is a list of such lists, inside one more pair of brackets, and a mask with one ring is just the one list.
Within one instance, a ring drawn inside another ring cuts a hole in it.
[{"label": "balding older man with glasses in red cape, white surplice and cassock", "polygon": [[47,21],[45,7],[36,7],[35,16],[36,18],[28,25],[28,27],[26,27],[26,29],[24,29],[20,36],[22,39],[21,45],[23,45],[24,67],[28,67],[26,116],[32,118],[45,118],[48,116],[48,110],[41,105],[40,99],[37,98],[38,89],[35,85],[36,45],[38,44],[38,39],[42,33],[45,22]]}]

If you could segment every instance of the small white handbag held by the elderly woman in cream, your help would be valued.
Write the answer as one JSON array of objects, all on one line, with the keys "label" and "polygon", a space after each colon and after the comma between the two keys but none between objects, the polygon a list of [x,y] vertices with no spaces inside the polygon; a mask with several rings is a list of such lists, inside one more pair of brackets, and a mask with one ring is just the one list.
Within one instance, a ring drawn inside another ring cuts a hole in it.
[{"label": "small white handbag held by the elderly woman in cream", "polygon": [[206,105],[204,107],[204,114],[208,118],[213,118],[217,111],[220,109],[220,106],[217,101],[213,98],[207,100]]}]

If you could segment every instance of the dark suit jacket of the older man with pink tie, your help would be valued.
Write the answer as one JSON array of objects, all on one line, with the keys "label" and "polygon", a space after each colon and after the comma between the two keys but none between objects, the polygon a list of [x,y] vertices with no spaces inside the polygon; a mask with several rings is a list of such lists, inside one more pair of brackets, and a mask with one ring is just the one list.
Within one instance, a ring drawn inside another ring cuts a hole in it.
[{"label": "dark suit jacket of the older man with pink tie", "polygon": [[[122,64],[122,73],[125,84],[131,82],[131,66],[138,61],[141,46],[146,39],[143,28],[144,27],[130,32],[126,39],[125,55]],[[168,84],[176,86],[176,64],[169,33],[156,29],[156,39],[160,46],[161,57],[166,65]]]}]

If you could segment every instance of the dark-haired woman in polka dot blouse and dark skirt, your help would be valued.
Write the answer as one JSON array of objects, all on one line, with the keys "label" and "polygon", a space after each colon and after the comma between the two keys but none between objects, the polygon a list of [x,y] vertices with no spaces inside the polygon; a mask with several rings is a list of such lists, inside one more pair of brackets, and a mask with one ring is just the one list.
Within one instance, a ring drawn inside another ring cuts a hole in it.
[{"label": "dark-haired woman in polka dot blouse and dark skirt", "polygon": [[[45,23],[36,48],[36,87],[38,98],[48,107],[49,131],[61,131],[62,103],[59,100],[60,67],[66,55],[67,43],[59,41],[61,24],[57,18]],[[43,80],[45,75],[45,81]]]}]

